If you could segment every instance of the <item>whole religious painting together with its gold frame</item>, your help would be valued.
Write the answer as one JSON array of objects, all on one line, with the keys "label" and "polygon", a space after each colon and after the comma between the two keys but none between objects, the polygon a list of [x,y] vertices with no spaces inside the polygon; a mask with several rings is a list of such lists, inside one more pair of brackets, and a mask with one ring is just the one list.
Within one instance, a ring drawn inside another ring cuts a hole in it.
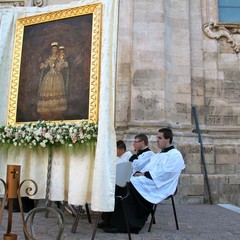
[{"label": "whole religious painting together with its gold frame", "polygon": [[98,120],[101,3],[17,20],[8,124]]}]

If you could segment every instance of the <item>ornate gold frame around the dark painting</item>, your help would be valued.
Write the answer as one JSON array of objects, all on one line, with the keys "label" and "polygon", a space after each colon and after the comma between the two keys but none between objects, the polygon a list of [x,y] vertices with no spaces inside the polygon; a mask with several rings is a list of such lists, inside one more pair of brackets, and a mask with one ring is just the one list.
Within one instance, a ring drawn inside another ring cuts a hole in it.
[{"label": "ornate gold frame around the dark painting", "polygon": [[[40,23],[47,23],[56,20],[70,19],[87,14],[92,14],[91,32],[91,63],[89,76],[89,99],[88,99],[88,119],[64,119],[64,121],[88,120],[96,123],[98,121],[98,101],[100,84],[100,50],[101,50],[101,20],[102,4],[90,4],[81,7],[69,8],[65,10],[39,14],[31,17],[20,18],[17,20],[14,52],[12,61],[11,85],[8,103],[8,124],[16,125],[18,122],[17,108],[19,95],[19,81],[21,74],[21,59],[24,41],[24,29],[26,26],[33,26]],[[47,119],[46,119],[47,120]],[[53,119],[53,121],[55,121]],[[26,121],[35,122],[35,121]]]}]

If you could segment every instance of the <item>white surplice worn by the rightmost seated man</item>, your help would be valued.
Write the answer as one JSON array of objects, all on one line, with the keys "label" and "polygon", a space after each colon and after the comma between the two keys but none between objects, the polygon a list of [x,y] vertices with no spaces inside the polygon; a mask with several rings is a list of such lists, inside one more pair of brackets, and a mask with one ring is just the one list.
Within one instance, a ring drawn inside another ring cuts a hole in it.
[{"label": "white surplice worn by the rightmost seated man", "polygon": [[156,204],[175,192],[184,168],[182,154],[177,149],[171,149],[168,152],[156,153],[140,170],[149,172],[152,179],[132,176],[130,181],[147,201]]}]

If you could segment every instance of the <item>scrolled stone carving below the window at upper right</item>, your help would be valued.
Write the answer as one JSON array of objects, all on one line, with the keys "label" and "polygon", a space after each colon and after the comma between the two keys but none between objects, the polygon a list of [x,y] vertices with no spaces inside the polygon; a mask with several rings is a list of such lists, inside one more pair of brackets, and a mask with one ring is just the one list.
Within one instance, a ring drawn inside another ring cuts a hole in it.
[{"label": "scrolled stone carving below the window at upper right", "polygon": [[233,34],[240,33],[240,25],[239,24],[215,24],[213,22],[205,23],[203,25],[203,32],[206,36],[211,39],[220,39],[222,37],[227,38],[227,42],[231,44],[233,51],[235,53],[240,52],[239,44],[233,37]]}]

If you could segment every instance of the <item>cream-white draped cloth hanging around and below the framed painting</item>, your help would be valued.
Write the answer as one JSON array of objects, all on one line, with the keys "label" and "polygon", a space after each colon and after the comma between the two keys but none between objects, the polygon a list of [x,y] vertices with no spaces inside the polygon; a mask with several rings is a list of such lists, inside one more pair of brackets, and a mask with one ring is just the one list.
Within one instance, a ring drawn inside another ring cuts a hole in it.
[{"label": "cream-white draped cloth hanging around and below the framed painting", "polygon": [[[0,125],[7,123],[12,49],[18,18],[101,2],[102,46],[98,140],[96,149],[73,151],[53,149],[50,199],[71,204],[91,203],[96,211],[114,209],[116,175],[116,136],[114,129],[118,0],[81,0],[66,5],[37,7],[0,7]],[[45,198],[49,152],[47,149],[0,147],[0,178],[6,179],[7,164],[21,165],[21,180],[38,184],[35,198]],[[0,189],[1,186],[0,186]]]}]

